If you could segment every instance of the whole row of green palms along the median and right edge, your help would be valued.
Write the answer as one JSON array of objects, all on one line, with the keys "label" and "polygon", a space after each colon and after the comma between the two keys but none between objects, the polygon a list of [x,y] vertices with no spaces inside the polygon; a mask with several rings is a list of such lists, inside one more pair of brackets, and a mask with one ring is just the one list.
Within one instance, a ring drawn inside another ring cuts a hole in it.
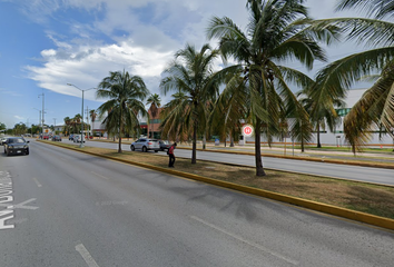
[{"label": "whole row of green palms along the median and right edge", "polygon": [[[218,47],[200,49],[187,43],[164,70],[160,90],[173,93],[161,112],[162,138],[191,140],[196,164],[197,138],[211,134],[237,138],[243,123],[255,129],[256,176],[265,176],[260,157],[262,136],[272,142],[284,134],[301,142],[313,131],[338,123],[336,108],[361,79],[373,86],[344,119],[344,135],[354,152],[362,149],[376,127],[394,137],[394,16],[391,1],[339,0],[336,10],[368,10],[366,18],[314,20],[304,0],[247,0],[249,23],[243,30],[228,17],[213,17],[208,39]],[[298,62],[312,70],[315,60],[327,62],[323,44],[356,40],[368,50],[327,63],[311,78],[289,68]],[[223,68],[215,69],[223,59]],[[292,87],[301,90],[293,92]],[[127,71],[102,79],[97,98],[109,99],[96,111],[106,128],[119,136],[136,135],[149,91],[144,80]],[[157,96],[158,97],[158,96]],[[159,98],[158,98],[159,99]],[[159,107],[150,95],[150,103]],[[319,138],[317,135],[317,142]],[[304,149],[304,147],[303,147]]]}]

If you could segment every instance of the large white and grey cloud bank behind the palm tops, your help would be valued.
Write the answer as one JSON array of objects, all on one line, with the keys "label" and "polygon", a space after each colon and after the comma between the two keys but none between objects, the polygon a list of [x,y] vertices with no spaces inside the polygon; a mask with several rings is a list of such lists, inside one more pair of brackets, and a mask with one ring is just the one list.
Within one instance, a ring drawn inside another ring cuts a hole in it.
[{"label": "large white and grey cloud bank behind the palm tops", "polygon": [[[242,29],[248,22],[246,1],[239,0],[33,0],[21,1],[35,17],[55,17],[59,9],[86,10],[96,19],[69,18],[62,21],[68,32],[47,31],[55,48],[41,50],[43,63],[28,66],[29,78],[42,88],[80,96],[68,87],[71,82],[86,89],[96,87],[109,71],[127,70],[141,76],[152,92],[158,92],[160,73],[174,52],[186,42],[199,49],[206,39],[206,28],[213,16],[228,17]],[[30,3],[30,4],[29,4]],[[334,17],[333,0],[309,0],[314,18]],[[40,14],[40,16],[38,16]],[[343,13],[342,13],[343,14]],[[351,13],[347,13],[351,16]],[[92,36],[95,38],[92,38]],[[209,41],[213,47],[214,41]],[[333,50],[334,51],[334,50]],[[334,51],[337,52],[338,49]],[[341,55],[354,51],[345,47]],[[219,62],[218,62],[219,63]],[[86,98],[96,100],[93,91]]]}]

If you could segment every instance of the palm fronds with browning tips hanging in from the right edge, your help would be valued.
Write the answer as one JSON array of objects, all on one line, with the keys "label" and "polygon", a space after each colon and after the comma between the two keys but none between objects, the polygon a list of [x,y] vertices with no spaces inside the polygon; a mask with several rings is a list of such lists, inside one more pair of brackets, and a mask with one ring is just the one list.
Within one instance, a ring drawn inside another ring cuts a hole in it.
[{"label": "palm fronds with browning tips hanging in from the right edge", "polygon": [[325,88],[322,98],[343,98],[354,82],[378,73],[344,120],[345,138],[355,154],[381,126],[394,138],[394,23],[380,20],[393,18],[394,9],[387,0],[342,0],[337,6],[337,10],[351,8],[368,10],[367,14],[375,18],[334,18],[315,23],[336,26],[347,33],[348,40],[365,42],[372,49],[332,62],[318,72],[316,82]]}]

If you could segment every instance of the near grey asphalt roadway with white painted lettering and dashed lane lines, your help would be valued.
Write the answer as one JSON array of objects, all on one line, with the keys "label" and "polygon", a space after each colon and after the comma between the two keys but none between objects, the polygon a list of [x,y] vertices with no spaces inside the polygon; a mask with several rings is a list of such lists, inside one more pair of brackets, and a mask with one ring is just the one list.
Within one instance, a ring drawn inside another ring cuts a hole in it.
[{"label": "near grey asphalt roadway with white painted lettering and dashed lane lines", "polygon": [[393,266],[394,233],[30,144],[0,155],[0,266]]}]

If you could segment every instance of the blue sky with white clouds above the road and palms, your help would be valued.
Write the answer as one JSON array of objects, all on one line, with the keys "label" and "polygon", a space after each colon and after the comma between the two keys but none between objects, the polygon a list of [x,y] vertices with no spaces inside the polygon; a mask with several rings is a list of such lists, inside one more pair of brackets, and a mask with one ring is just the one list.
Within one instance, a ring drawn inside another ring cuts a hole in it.
[{"label": "blue sky with white clouds above the road and palms", "polygon": [[[359,17],[335,13],[335,2],[308,0],[306,6],[315,19]],[[109,71],[142,77],[165,105],[170,93],[159,89],[164,69],[186,43],[217,47],[206,38],[214,16],[245,29],[246,0],[0,0],[0,122],[38,125],[43,105],[45,123],[62,125],[82,106],[82,91],[67,83],[86,90],[85,112],[97,109],[105,100],[96,99],[91,88]],[[327,53],[333,61],[362,50],[338,43]]]}]

